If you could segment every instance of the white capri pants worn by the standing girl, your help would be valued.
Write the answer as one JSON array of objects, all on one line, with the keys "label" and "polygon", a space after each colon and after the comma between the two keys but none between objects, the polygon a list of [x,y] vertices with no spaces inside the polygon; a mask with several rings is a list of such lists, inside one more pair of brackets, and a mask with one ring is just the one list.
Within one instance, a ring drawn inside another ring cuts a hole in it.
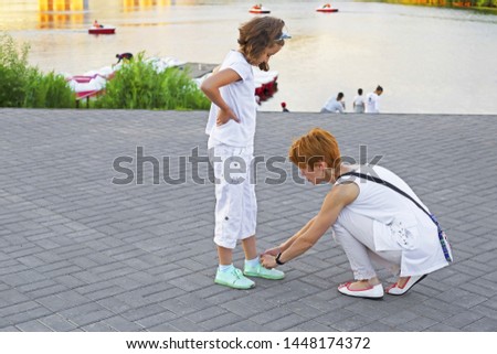
[{"label": "white capri pants worn by the standing girl", "polygon": [[252,183],[253,147],[218,144],[209,149],[215,176],[214,243],[235,248],[239,239],[255,235],[257,200]]}]

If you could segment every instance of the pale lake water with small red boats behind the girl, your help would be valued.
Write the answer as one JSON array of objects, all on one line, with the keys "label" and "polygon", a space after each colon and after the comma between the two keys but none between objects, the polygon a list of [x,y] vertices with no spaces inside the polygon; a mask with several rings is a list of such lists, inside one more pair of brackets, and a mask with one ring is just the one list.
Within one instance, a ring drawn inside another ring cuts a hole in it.
[{"label": "pale lake water with small red boats behind the girl", "polygon": [[[293,39],[271,62],[279,90],[261,110],[318,111],[357,88],[384,88],[382,112],[497,114],[497,17],[470,10],[381,2],[267,1]],[[0,0],[0,30],[31,44],[30,63],[73,75],[145,51],[220,63],[236,47],[247,1]],[[115,35],[89,35],[98,19]]]}]

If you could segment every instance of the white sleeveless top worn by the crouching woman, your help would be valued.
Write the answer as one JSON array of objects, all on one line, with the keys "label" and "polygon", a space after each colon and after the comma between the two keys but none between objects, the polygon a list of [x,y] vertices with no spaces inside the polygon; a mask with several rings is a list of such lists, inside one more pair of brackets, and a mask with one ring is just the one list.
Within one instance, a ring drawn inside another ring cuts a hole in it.
[{"label": "white sleeveless top worn by the crouching woman", "polygon": [[[430,212],[393,172],[378,165],[352,168],[356,172],[390,182]],[[346,208],[373,219],[376,251],[402,250],[401,277],[425,275],[448,265],[440,245],[437,227],[412,201],[385,185],[353,175],[339,178],[335,185],[347,181],[359,186],[359,195]]]}]

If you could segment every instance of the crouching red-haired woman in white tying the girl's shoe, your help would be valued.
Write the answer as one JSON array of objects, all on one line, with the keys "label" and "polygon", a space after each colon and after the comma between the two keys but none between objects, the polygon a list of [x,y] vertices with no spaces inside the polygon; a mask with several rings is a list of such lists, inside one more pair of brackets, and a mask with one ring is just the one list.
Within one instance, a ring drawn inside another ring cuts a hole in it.
[{"label": "crouching red-haired woman in white tying the girl's shoe", "polygon": [[[411,187],[378,165],[346,165],[335,137],[316,128],[296,140],[289,159],[310,183],[330,183],[319,213],[262,262],[275,268],[311,248],[329,229],[342,246],[353,281],[340,285],[346,296],[381,299],[406,293],[426,275],[447,266],[452,254],[444,233]],[[398,280],[383,289],[373,267],[390,269]]]}]

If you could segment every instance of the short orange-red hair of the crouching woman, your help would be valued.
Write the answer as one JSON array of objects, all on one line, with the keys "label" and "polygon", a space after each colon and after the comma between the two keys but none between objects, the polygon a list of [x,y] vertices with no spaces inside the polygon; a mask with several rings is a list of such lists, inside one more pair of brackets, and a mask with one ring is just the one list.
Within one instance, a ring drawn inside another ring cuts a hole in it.
[{"label": "short orange-red hair of the crouching woman", "polygon": [[325,161],[335,175],[340,172],[340,148],[335,137],[321,129],[314,128],[305,136],[294,141],[288,152],[289,160],[299,169],[308,167],[314,171],[314,165]]}]

